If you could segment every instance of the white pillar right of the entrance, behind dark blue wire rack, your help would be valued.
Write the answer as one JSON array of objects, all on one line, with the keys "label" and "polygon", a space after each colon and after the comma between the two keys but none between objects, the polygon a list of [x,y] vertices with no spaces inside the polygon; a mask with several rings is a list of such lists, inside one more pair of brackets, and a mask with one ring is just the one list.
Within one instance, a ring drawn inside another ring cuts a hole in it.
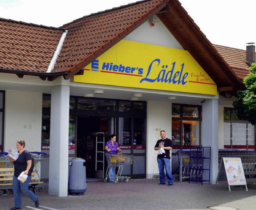
[{"label": "white pillar right of the entrance, behind dark blue wire rack", "polygon": [[211,147],[210,183],[218,175],[218,99],[206,99],[202,106],[202,146]]}]

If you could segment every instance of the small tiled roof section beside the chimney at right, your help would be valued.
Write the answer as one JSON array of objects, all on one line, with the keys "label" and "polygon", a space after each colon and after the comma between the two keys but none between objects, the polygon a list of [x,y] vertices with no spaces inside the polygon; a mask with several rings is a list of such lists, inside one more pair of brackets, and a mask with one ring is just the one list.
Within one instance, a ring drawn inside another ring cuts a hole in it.
[{"label": "small tiled roof section beside the chimney at right", "polygon": [[246,50],[213,45],[224,60],[240,79],[244,79],[250,71],[250,64],[246,61]]}]

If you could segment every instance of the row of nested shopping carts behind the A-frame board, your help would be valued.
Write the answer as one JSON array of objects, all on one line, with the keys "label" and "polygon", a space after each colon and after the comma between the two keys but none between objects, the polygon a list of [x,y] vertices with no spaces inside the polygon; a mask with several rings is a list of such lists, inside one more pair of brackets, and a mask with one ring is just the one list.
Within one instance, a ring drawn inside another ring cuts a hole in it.
[{"label": "row of nested shopping carts behind the A-frame board", "polygon": [[219,165],[222,157],[240,157],[244,168],[244,175],[246,176],[246,178],[256,177],[256,151],[220,149]]}]

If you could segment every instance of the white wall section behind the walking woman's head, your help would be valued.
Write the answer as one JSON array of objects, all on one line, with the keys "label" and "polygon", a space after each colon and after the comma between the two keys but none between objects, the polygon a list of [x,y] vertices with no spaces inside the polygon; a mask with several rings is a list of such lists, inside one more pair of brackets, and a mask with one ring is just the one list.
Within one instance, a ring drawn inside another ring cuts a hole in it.
[{"label": "white wall section behind the walking woman's head", "polygon": [[42,93],[6,90],[4,151],[23,139],[28,151],[41,151]]}]

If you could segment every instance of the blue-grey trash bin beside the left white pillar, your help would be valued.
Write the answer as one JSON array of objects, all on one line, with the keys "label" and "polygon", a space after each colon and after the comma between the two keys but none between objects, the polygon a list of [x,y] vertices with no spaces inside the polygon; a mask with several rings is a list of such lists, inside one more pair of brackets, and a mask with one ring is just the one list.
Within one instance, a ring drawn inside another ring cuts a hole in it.
[{"label": "blue-grey trash bin beside the left white pillar", "polygon": [[70,195],[84,195],[86,192],[85,160],[73,158],[69,161],[68,192]]}]

